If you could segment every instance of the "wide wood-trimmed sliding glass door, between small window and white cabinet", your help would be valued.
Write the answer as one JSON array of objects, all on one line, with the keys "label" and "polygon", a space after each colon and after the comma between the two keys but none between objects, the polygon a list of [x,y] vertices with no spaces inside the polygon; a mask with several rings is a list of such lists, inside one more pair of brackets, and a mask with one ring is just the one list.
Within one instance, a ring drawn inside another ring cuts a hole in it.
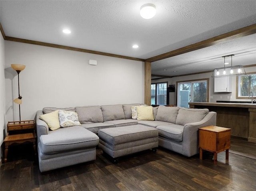
[{"label": "wide wood-trimmed sliding glass door, between small window and white cabinet", "polygon": [[189,102],[208,102],[209,79],[177,82],[177,105],[188,108]]}]

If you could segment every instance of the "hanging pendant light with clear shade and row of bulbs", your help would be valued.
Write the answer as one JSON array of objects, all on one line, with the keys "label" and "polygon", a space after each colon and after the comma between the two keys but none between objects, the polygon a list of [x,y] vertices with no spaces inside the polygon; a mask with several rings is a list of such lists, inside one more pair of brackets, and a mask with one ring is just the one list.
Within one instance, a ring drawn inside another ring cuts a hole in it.
[{"label": "hanging pendant light with clear shade and row of bulbs", "polygon": [[[226,76],[246,75],[244,66],[242,66],[242,65],[233,66],[232,65],[232,56],[234,56],[234,54],[222,56],[224,58],[224,67],[214,69],[214,71],[212,73],[212,77],[217,78],[217,77],[226,77]],[[229,67],[225,67],[225,65],[227,64],[225,62],[226,57],[231,57],[231,66],[229,66]]]}]

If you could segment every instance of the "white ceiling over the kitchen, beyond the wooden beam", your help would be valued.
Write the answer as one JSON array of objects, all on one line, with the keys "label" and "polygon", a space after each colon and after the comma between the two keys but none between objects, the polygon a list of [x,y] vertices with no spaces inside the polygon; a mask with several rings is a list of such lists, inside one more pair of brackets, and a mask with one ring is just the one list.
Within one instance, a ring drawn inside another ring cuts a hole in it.
[{"label": "white ceiling over the kitchen, beyond the wooden beam", "polygon": [[[256,64],[256,34],[153,62],[152,74],[176,76],[210,71],[224,67],[222,56],[231,54],[232,65]],[[231,57],[226,57],[226,62],[231,65]]]}]

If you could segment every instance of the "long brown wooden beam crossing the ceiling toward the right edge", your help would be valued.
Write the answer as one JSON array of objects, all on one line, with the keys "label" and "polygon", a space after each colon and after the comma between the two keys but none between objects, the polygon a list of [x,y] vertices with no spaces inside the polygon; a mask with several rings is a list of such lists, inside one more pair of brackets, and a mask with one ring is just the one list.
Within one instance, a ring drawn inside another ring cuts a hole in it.
[{"label": "long brown wooden beam crossing the ceiling toward the right edge", "polygon": [[177,56],[183,53],[187,53],[190,51],[194,51],[194,50],[198,50],[201,48],[205,48],[205,47],[209,47],[212,45],[216,45],[216,44],[220,44],[229,40],[233,40],[236,38],[240,38],[243,36],[247,36],[247,35],[251,35],[251,34],[255,34],[256,33],[256,24],[244,27],[244,28],[240,28],[238,30],[234,30],[232,32],[228,32],[222,35],[218,35],[216,37],[212,37],[209,39],[206,39],[204,41],[200,41],[198,43],[194,43],[192,45],[188,45],[170,52],[166,52],[151,58],[146,59],[147,62],[155,62],[158,60],[162,60],[162,59],[166,59],[166,58],[170,58],[173,56]]}]

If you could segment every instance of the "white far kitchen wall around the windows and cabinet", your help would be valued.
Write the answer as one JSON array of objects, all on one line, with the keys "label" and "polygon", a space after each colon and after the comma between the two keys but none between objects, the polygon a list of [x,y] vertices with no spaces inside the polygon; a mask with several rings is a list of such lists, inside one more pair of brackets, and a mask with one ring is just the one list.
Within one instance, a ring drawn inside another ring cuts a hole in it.
[{"label": "white far kitchen wall around the windows and cabinet", "polygon": [[[246,73],[256,72],[256,67],[246,67],[244,68]],[[187,81],[187,80],[196,80],[196,79],[205,79],[209,78],[210,89],[209,89],[209,102],[216,102],[217,100],[220,101],[250,101],[249,99],[236,99],[236,77],[233,76],[232,78],[232,93],[214,93],[214,78],[212,78],[212,73],[202,73],[197,75],[188,75],[188,76],[180,76],[180,77],[173,77],[167,79],[159,79],[159,80],[152,80],[152,83],[159,83],[159,82],[168,82],[168,85],[175,84],[175,93],[170,93],[170,104],[177,104],[177,81]],[[210,98],[212,96],[212,98]],[[220,96],[222,98],[220,98]],[[232,98],[230,98],[230,96]],[[255,96],[255,95],[254,95]],[[228,98],[229,97],[229,98]]]}]

